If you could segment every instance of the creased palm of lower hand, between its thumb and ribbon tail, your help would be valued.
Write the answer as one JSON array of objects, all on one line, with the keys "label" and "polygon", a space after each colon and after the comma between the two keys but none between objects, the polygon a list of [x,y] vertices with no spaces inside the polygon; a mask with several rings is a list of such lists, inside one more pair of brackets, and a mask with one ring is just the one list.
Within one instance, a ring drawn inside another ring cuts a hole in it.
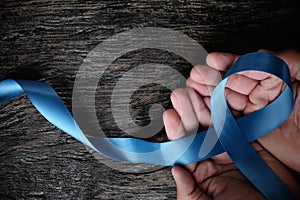
[{"label": "creased palm of lower hand, between its thumb and ribbon tail", "polygon": [[178,199],[263,199],[233,164],[206,160],[192,175],[194,187],[190,187],[190,193],[178,194]]}]

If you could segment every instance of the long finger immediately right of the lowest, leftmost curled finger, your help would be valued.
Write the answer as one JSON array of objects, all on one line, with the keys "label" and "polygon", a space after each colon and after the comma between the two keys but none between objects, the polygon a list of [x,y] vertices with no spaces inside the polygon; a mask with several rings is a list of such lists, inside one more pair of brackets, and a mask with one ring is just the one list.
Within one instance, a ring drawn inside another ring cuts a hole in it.
[{"label": "long finger immediately right of the lowest, leftmost curled finger", "polygon": [[178,113],[187,135],[195,134],[199,125],[193,101],[191,100],[192,92],[194,91],[190,88],[179,88],[174,90],[171,94],[173,107]]}]

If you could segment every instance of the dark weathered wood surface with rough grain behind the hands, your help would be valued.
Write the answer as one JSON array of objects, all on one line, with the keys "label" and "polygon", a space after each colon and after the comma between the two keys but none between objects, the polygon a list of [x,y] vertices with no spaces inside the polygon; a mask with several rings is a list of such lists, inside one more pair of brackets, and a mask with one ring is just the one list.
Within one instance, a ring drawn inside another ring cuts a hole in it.
[{"label": "dark weathered wood surface with rough grain behind the hands", "polygon": [[[246,53],[300,47],[299,6],[293,1],[12,1],[0,2],[0,80],[50,83],[67,107],[84,58],[101,41],[137,27],[178,30],[207,51]],[[111,90],[120,74],[141,63],[168,64],[188,75],[176,55],[141,50],[116,60],[99,84],[97,115],[105,133],[126,136],[113,123]],[[136,77],[142,81],[145,77]],[[170,91],[148,85],[133,95],[133,117],[147,124],[154,102],[170,107]],[[82,144],[48,123],[21,96],[0,106],[0,199],[174,199],[170,168],[145,174],[107,167]],[[163,131],[162,131],[163,133]],[[154,137],[152,140],[163,140]]]}]

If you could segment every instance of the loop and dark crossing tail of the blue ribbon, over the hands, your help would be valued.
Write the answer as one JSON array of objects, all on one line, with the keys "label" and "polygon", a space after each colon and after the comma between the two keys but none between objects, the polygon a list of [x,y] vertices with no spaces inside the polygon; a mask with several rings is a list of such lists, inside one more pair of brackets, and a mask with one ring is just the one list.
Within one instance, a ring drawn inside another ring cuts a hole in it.
[{"label": "loop and dark crossing tail of the blue ribbon, over the hands", "polygon": [[[269,54],[260,55],[269,57]],[[266,165],[266,163],[259,157],[254,148],[251,146],[246,135],[243,133],[239,124],[234,119],[226,103],[226,82],[228,77],[233,74],[233,70],[234,73],[237,73],[239,70],[258,70],[259,67],[260,71],[265,71],[268,73],[272,72],[273,75],[279,76],[279,78],[282,80],[286,78],[286,74],[277,72],[281,71],[284,73],[289,73],[288,68],[285,65],[276,65],[276,71],[273,70],[275,68],[273,64],[276,63],[277,57],[269,57],[267,59],[269,65],[264,63],[265,60],[262,60],[262,62],[259,64],[263,63],[263,68],[260,67],[261,65],[257,65],[256,62],[245,62],[247,60],[252,61],[253,59],[251,58],[253,58],[253,56],[257,56],[257,53],[247,54],[244,57],[242,56],[239,62],[232,66],[231,71],[225,75],[225,78],[221,81],[221,83],[218,84],[213,92],[211,97],[211,113],[214,128],[216,130],[216,134],[219,136],[219,140],[224,150],[228,153],[235,165],[267,199],[294,199],[294,196],[290,193],[286,185],[272,172],[272,170]],[[270,70],[268,70],[268,68],[270,68]],[[243,126],[247,126],[247,129],[250,130],[252,129],[250,127],[255,127],[256,129],[253,131],[257,132],[259,129],[261,129],[257,128],[257,120],[260,120],[266,122],[265,124],[261,124],[263,129],[271,131],[278,126],[278,123],[280,124],[283,122],[289,116],[289,111],[293,108],[293,103],[287,103],[287,101],[292,97],[290,84],[291,83],[287,81],[288,86],[281,94],[281,97],[268,105],[268,108],[261,109],[259,112],[257,112],[259,115],[256,118],[253,118],[251,121],[249,120],[248,122],[243,123]],[[283,98],[285,99],[283,100]],[[274,111],[278,112],[277,107],[280,106],[280,102],[285,102],[287,105],[285,106],[286,109],[283,109],[283,112],[281,113],[282,117],[278,118],[278,114],[276,113],[276,115],[273,115],[276,116],[276,119],[272,120],[272,114],[275,114]],[[219,120],[220,118],[224,120]]]}]

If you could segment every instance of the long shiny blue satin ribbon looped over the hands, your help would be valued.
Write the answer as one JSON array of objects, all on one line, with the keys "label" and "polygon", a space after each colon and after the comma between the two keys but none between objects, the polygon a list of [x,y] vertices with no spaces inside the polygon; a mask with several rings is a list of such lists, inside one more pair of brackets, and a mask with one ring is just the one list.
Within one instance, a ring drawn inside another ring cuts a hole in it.
[{"label": "long shiny blue satin ribbon looped over the hands", "polygon": [[[246,70],[273,74],[284,81],[286,87],[269,105],[235,119],[226,102],[225,86],[229,76]],[[49,122],[111,159],[173,166],[202,161],[226,151],[240,171],[267,199],[295,199],[250,144],[282,124],[294,106],[289,68],[283,60],[271,54],[262,52],[245,54],[232,65],[211,96],[213,128],[163,143],[137,138],[85,135],[60,97],[47,83],[17,79],[0,82],[0,104],[23,93]],[[215,138],[215,145],[206,149],[207,153],[203,154],[199,151],[207,146],[204,143],[207,136],[212,140]]]}]

